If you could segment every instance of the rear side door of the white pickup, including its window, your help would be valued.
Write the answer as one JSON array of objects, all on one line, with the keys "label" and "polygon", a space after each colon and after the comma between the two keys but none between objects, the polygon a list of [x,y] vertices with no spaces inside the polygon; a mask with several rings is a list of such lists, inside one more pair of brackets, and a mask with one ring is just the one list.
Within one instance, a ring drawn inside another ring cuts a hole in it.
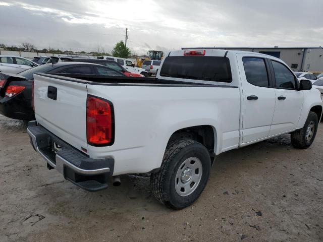
[{"label": "rear side door of the white pickup, including its window", "polygon": [[237,57],[243,92],[242,143],[248,143],[269,135],[276,96],[267,59],[260,55]]}]

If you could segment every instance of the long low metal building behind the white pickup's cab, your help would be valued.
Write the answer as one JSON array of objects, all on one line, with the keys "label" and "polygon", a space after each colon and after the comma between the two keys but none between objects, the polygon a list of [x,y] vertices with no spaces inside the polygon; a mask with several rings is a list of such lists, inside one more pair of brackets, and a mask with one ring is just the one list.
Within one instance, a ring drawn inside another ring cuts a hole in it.
[{"label": "long low metal building behind the white pickup's cab", "polygon": [[282,59],[292,70],[305,72],[323,72],[323,47],[194,47],[182,49],[227,49],[252,51],[273,55]]}]

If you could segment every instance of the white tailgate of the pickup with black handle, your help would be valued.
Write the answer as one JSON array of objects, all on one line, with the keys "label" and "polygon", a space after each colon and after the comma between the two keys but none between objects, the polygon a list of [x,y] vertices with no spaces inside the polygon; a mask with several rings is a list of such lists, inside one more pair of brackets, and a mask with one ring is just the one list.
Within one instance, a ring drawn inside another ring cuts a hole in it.
[{"label": "white tailgate of the pickup with black handle", "polygon": [[34,74],[37,122],[83,152],[84,149],[87,150],[86,85],[87,82],[82,80],[76,82],[69,78],[58,79]]}]

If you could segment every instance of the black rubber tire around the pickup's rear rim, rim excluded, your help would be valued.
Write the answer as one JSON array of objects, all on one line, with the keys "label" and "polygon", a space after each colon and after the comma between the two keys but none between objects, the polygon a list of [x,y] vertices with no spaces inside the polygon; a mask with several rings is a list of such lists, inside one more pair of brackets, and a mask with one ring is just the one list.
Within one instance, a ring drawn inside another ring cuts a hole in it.
[{"label": "black rubber tire around the pickup's rear rim, rim excluded", "polygon": [[[176,174],[183,161],[191,157],[200,160],[202,165],[201,178],[191,194],[180,196],[175,189]],[[190,139],[171,141],[166,148],[159,171],[150,176],[155,198],[172,209],[183,209],[193,204],[207,184],[210,167],[211,160],[205,146]]]}]

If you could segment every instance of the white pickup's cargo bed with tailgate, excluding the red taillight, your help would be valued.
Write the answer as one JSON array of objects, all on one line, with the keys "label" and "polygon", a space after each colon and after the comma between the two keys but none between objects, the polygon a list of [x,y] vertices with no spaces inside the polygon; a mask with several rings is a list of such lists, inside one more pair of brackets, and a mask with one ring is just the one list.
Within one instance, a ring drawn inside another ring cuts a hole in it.
[{"label": "white pickup's cargo bed with tailgate, excluding the red taillight", "polygon": [[[56,96],[52,89],[56,89]],[[113,104],[111,146],[87,143],[88,96]],[[149,172],[159,167],[169,138],[184,127],[219,127],[219,153],[239,143],[240,91],[230,85],[35,74],[34,102],[39,125],[90,158],[113,157],[114,175]]]}]

